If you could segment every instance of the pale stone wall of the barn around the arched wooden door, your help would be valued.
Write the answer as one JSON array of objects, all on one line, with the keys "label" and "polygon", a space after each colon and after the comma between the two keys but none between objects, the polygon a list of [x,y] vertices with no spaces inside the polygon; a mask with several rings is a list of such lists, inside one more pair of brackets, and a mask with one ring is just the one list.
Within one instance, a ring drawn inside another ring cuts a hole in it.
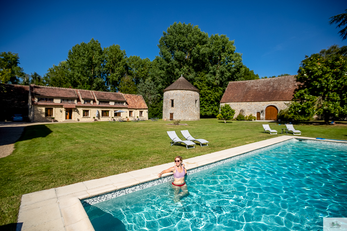
[{"label": "pale stone wall of the barn around the arched wooden door", "polygon": [[244,111],[244,116],[252,114],[257,116],[257,112],[260,112],[260,120],[265,120],[265,109],[267,106],[273,105],[277,107],[278,111],[288,108],[286,103],[290,101],[267,101],[267,102],[230,102],[221,103],[221,106],[229,104],[232,109],[235,110],[234,118],[240,113],[240,110]]}]

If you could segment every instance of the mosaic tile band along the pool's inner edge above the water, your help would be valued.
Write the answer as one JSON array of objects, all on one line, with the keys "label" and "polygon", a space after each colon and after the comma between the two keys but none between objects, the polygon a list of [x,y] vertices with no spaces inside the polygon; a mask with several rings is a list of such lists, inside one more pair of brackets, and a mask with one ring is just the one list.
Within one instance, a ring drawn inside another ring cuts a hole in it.
[{"label": "mosaic tile band along the pool's inner edge above the water", "polygon": [[[282,142],[279,142],[279,143],[275,143],[275,144],[272,144],[272,145],[269,145],[269,146],[266,146],[266,147],[258,148],[256,150],[252,150],[252,151],[249,151],[249,152],[241,153],[239,155],[232,156],[232,157],[224,159],[224,160],[216,161],[214,163],[210,163],[210,164],[207,164],[207,165],[204,165],[204,166],[199,166],[199,167],[196,167],[196,168],[193,168],[193,169],[189,169],[189,170],[187,170],[187,175],[194,174],[194,173],[206,170],[206,169],[210,169],[210,168],[213,168],[215,166],[218,166],[218,165],[221,165],[221,164],[225,164],[225,163],[231,162],[231,161],[239,159],[239,158],[244,158],[246,156],[262,152],[262,151],[267,150],[269,148],[275,148],[277,146],[283,145],[285,142],[290,142],[290,141],[295,141],[295,140],[297,140],[297,141],[305,140],[305,141],[313,142],[313,143],[321,143],[322,141],[324,141],[324,140],[311,140],[311,139],[299,139],[299,138],[289,139],[289,140],[282,141]],[[330,144],[337,145],[337,146],[341,146],[341,145],[347,146],[347,143],[333,142],[333,141],[328,141],[328,142]],[[82,199],[81,203],[82,203],[83,207],[87,207],[87,206],[94,205],[94,204],[97,204],[97,203],[100,203],[100,202],[103,202],[103,201],[106,201],[106,200],[110,200],[110,199],[116,198],[118,196],[126,195],[126,194],[129,194],[131,192],[138,191],[138,190],[142,190],[144,188],[148,188],[148,187],[152,187],[152,186],[156,186],[156,185],[161,185],[161,184],[169,182],[169,181],[173,181],[173,175],[167,176],[167,177],[163,177],[163,178],[159,178],[159,179],[156,179],[156,180],[152,180],[152,181],[149,181],[149,182],[141,183],[141,184],[138,184],[138,185],[132,185],[132,186],[129,186],[129,187],[117,189],[117,190],[114,190],[114,191],[111,191],[111,192],[106,192],[104,194],[100,194],[100,195],[97,195],[97,196],[89,197],[89,198],[86,198],[86,199]]]}]

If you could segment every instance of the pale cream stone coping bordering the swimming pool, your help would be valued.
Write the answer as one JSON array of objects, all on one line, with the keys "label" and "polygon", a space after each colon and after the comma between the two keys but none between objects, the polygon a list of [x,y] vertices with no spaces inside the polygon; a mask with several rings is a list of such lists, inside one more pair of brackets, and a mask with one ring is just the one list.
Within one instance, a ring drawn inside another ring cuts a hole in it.
[{"label": "pale cream stone coping bordering the swimming pool", "polygon": [[[184,160],[185,168],[191,170],[289,139],[311,139],[347,143],[347,141],[342,140],[281,136],[188,158]],[[168,169],[172,166],[173,163],[167,163],[105,178],[24,194],[21,198],[16,231],[94,231],[92,223],[81,203],[82,199],[157,180],[157,174],[161,170]],[[171,175],[173,174],[166,173],[163,174],[163,177]]]}]

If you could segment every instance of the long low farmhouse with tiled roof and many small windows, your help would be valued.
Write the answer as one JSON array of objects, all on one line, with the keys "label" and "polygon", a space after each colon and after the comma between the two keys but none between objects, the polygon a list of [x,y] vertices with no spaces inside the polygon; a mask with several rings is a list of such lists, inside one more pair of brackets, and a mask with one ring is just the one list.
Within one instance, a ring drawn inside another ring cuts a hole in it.
[{"label": "long low farmhouse with tiled roof and many small windows", "polygon": [[[142,95],[79,89],[29,86],[29,119],[32,122],[109,121],[114,117],[148,119]],[[116,112],[122,110],[125,112]]]}]

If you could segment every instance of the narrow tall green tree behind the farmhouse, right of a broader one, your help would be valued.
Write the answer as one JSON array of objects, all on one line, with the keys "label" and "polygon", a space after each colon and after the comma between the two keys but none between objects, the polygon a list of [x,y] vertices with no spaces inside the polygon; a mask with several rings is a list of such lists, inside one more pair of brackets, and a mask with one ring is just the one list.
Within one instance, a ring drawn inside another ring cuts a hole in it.
[{"label": "narrow tall green tree behind the farmhouse, right of a broader one", "polygon": [[106,75],[106,85],[111,92],[116,92],[119,82],[126,72],[126,53],[119,45],[112,45],[104,48],[105,65],[103,66]]}]

